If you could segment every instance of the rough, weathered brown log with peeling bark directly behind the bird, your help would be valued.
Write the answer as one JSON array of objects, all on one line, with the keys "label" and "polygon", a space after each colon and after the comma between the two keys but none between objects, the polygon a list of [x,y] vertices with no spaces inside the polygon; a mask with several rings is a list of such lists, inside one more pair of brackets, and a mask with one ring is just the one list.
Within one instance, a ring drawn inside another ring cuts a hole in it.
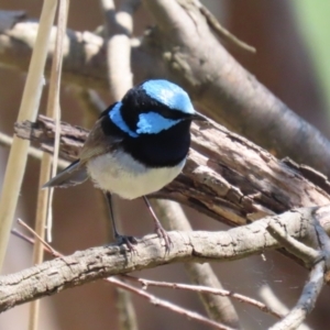
[{"label": "rough, weathered brown log with peeling bark directly behind the bird", "polygon": [[[324,190],[308,182],[299,168],[290,168],[261,147],[218,125],[193,125],[193,150],[184,173],[154,197],[186,204],[231,226],[245,224],[264,216],[295,207],[330,204],[328,182],[314,173]],[[36,123],[18,123],[20,138],[53,150],[53,121],[40,117]],[[88,132],[62,124],[61,152],[76,160]],[[308,172],[307,172],[308,173]]]}]

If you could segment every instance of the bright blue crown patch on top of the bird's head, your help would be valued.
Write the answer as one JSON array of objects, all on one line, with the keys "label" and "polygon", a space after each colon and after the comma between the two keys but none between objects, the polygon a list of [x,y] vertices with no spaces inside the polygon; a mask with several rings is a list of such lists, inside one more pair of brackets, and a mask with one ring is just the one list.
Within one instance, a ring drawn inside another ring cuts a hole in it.
[{"label": "bright blue crown patch on top of the bird's head", "polygon": [[187,114],[195,113],[188,94],[173,82],[163,79],[148,80],[142,84],[142,88],[147,96],[170,109],[179,110]]}]

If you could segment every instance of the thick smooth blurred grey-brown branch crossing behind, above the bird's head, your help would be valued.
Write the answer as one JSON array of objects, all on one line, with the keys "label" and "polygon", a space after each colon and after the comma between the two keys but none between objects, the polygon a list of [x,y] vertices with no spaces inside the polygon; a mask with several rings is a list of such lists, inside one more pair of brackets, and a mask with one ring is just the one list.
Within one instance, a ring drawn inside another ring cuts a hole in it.
[{"label": "thick smooth blurred grey-brown branch crossing behind, above the bird's head", "polygon": [[[179,82],[211,118],[278,157],[290,156],[329,175],[329,141],[244,70],[218,42],[200,9],[186,2],[183,8],[176,1],[144,1],[160,29],[148,30],[142,43],[132,41],[135,81],[167,77]],[[36,29],[36,23],[21,22],[1,31],[0,63],[26,70]],[[103,40],[68,31],[66,43],[64,81],[107,90]]]}]

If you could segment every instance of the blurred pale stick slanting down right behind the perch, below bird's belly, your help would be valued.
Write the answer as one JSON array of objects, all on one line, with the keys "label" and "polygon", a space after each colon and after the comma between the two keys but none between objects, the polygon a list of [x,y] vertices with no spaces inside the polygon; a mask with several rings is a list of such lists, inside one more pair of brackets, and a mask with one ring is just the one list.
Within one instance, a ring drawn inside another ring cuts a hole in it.
[{"label": "blurred pale stick slanting down right behind the perch, below bird's belly", "polygon": [[[170,230],[191,231],[190,223],[178,204],[169,200],[152,200],[152,204],[156,206],[162,222],[165,222],[167,228]],[[185,267],[193,283],[222,289],[222,284],[210,264],[185,263]],[[239,328],[239,316],[229,298],[208,293],[201,293],[199,298],[211,319]]]}]

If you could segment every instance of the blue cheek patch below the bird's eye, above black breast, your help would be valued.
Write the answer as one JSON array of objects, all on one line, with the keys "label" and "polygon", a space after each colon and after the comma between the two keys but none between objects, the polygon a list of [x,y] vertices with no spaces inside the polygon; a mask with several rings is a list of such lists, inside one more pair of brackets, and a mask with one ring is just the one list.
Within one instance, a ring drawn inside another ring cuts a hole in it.
[{"label": "blue cheek patch below the bird's eye, above black breast", "polygon": [[141,113],[138,122],[138,134],[157,134],[164,130],[168,130],[182,119],[167,119],[156,112]]}]

